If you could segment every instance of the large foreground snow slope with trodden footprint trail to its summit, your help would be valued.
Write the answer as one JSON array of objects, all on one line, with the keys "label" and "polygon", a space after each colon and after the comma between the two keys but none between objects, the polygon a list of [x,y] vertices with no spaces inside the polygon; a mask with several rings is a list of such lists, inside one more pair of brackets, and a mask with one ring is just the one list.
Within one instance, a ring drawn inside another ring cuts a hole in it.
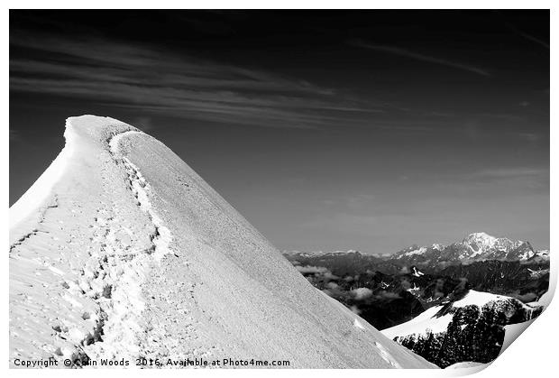
[{"label": "large foreground snow slope with trodden footprint trail to its summit", "polygon": [[434,367],[314,289],[151,136],[84,115],[65,137],[10,209],[10,360]]}]

